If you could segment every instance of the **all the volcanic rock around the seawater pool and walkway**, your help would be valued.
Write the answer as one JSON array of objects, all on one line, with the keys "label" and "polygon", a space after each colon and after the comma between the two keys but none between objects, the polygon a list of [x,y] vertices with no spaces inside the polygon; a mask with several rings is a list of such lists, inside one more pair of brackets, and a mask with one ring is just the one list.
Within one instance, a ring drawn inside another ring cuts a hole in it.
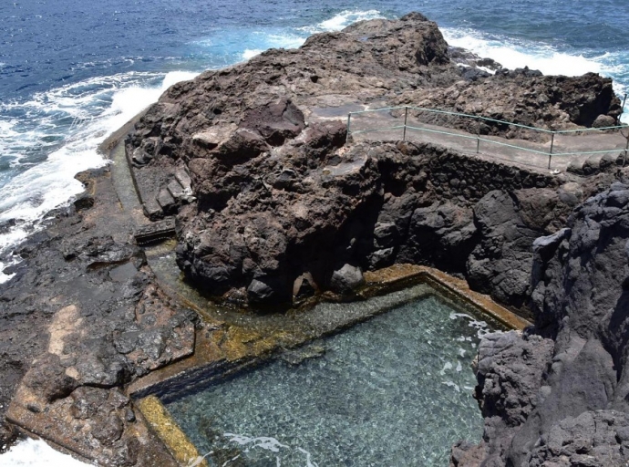
[{"label": "all the volcanic rock around the seawater pool and walkway", "polygon": [[176,234],[177,264],[203,296],[249,312],[353,299],[367,271],[390,265],[465,279],[535,326],[481,344],[483,441],[455,446],[452,465],[629,461],[627,169],[602,161],[582,177],[410,141],[347,144],[342,118],[413,103],[550,130],[610,126],[611,80],[453,57],[410,14],[170,88],[122,163],[80,174],[86,193],[15,251],[0,285],[0,446],[15,435],[11,403],[9,420],[90,460],[176,465],[126,389],[191,358],[200,333],[237,327],[215,329],[163,289],[136,241],[152,226]]}]

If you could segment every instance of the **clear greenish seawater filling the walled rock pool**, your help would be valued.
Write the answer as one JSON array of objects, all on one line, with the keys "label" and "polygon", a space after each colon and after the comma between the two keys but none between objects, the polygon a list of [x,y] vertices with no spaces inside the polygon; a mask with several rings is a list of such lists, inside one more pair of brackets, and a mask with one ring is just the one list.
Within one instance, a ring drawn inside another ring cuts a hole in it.
[{"label": "clear greenish seawater filling the walled rock pool", "polygon": [[167,408],[211,466],[447,466],[482,434],[470,363],[489,330],[426,296]]}]

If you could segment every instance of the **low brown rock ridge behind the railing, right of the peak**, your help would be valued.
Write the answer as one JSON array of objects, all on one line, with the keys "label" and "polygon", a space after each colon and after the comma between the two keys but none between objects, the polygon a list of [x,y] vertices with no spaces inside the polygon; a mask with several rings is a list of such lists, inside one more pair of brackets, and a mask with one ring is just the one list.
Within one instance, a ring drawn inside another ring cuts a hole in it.
[{"label": "low brown rock ridge behind the railing, right of the peak", "polygon": [[[472,68],[474,69],[474,68]],[[611,78],[594,73],[583,77],[542,76],[528,68],[500,69],[479,79],[478,73],[464,71],[467,81],[446,88],[422,88],[398,97],[397,105],[426,109],[447,109],[489,119],[510,121],[547,130],[573,129],[618,124],[620,100]],[[469,82],[471,81],[471,82]],[[414,112],[420,121],[477,131],[483,135],[540,140],[544,135],[498,122],[460,119],[443,114]]]}]

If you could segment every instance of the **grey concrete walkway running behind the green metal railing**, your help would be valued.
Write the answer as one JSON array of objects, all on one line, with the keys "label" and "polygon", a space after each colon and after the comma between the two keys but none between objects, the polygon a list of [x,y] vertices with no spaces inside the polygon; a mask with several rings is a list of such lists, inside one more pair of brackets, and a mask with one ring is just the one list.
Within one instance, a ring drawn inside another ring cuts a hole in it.
[{"label": "grey concrete walkway running behind the green metal railing", "polygon": [[[345,106],[346,107],[346,106]],[[313,109],[314,119],[347,119],[347,109]],[[352,109],[350,111],[356,111]],[[549,169],[549,152],[551,151],[551,135],[540,133],[543,142],[531,140],[506,139],[494,136],[477,135],[462,130],[427,124],[420,121],[408,111],[407,126],[417,127],[421,130],[407,128],[406,139],[413,142],[426,142],[445,146],[452,150],[458,150],[472,157],[490,161],[502,161],[505,163],[522,166],[529,170],[538,171],[566,171],[573,162],[583,166],[583,162],[592,158],[600,161],[604,156],[613,157],[614,160],[624,154],[627,139],[618,130],[590,131],[585,133],[557,134],[552,144],[553,154],[562,152],[583,152],[574,155],[554,155],[551,158]],[[376,130],[390,127],[404,126],[404,110],[383,110],[360,114],[353,114],[350,130],[351,139],[360,140],[402,140],[404,129],[377,130],[360,132],[362,130]],[[356,131],[356,133],[354,133]],[[444,132],[450,134],[443,134]],[[629,133],[629,129],[624,131]],[[509,146],[507,146],[509,145]],[[517,146],[518,148],[513,148]],[[529,150],[541,151],[542,154]],[[478,152],[477,152],[478,150]],[[604,150],[603,153],[593,153]]]}]

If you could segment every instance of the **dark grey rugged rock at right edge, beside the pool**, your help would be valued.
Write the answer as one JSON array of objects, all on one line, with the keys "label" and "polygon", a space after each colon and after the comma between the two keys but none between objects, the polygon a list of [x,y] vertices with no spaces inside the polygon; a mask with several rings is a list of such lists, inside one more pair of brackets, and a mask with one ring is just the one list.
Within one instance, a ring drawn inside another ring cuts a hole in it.
[{"label": "dark grey rugged rock at right edge, beside the pool", "polygon": [[627,239],[629,185],[616,182],[534,241],[536,334],[481,343],[484,441],[459,446],[454,465],[629,462]]}]

